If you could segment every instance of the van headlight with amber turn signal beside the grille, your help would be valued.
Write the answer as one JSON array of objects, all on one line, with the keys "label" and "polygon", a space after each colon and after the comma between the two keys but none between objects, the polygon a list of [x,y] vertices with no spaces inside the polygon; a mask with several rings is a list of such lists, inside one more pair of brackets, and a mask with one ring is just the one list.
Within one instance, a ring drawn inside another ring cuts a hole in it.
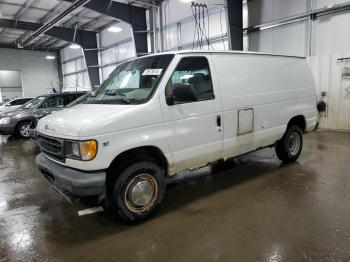
[{"label": "van headlight with amber turn signal beside the grille", "polygon": [[96,157],[97,142],[89,141],[66,141],[65,155],[68,158],[90,161]]}]

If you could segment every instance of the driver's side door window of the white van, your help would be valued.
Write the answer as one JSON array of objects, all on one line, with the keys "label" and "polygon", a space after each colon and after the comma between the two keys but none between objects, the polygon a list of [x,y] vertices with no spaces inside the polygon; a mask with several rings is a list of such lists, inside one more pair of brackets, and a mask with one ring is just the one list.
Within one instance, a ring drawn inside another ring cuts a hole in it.
[{"label": "driver's side door window of the white van", "polygon": [[181,59],[169,80],[166,95],[173,93],[175,103],[186,102],[179,101],[180,99],[176,97],[174,89],[178,89],[176,93],[182,93],[181,96],[183,94],[189,95],[192,102],[214,99],[208,60],[205,57]]}]

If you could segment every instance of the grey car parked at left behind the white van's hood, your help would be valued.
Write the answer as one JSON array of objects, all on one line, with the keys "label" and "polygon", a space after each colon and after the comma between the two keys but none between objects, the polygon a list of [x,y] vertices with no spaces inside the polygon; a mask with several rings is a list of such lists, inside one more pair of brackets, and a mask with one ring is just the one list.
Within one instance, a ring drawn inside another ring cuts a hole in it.
[{"label": "grey car parked at left behind the white van's hood", "polygon": [[84,94],[76,92],[38,96],[17,110],[0,114],[0,134],[27,138],[35,115],[48,115],[60,110]]}]

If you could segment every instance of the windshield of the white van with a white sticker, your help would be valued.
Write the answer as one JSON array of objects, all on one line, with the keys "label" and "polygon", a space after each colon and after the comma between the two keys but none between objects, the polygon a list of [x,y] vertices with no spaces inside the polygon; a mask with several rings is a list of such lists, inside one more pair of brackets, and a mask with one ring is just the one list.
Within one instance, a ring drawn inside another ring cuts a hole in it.
[{"label": "windshield of the white van with a white sticker", "polygon": [[150,99],[174,55],[135,59],[119,65],[89,104],[140,104]]}]

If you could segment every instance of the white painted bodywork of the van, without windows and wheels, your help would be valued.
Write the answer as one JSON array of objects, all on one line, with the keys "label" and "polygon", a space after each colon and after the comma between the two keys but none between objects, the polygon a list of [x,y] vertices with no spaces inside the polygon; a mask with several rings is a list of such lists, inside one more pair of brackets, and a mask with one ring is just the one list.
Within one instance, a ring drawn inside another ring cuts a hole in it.
[{"label": "white painted bodywork of the van, without windows and wheels", "polygon": [[[40,120],[37,129],[43,136],[94,139],[98,144],[91,161],[66,158],[62,162],[49,155],[46,159],[106,177],[105,171],[123,152],[156,148],[167,162],[166,174],[171,176],[274,145],[295,117],[303,120],[304,133],[315,129],[316,88],[305,58],[214,51],[170,54],[174,58],[146,103],[81,104]],[[208,60],[215,98],[168,105],[166,85],[186,57]]]}]

